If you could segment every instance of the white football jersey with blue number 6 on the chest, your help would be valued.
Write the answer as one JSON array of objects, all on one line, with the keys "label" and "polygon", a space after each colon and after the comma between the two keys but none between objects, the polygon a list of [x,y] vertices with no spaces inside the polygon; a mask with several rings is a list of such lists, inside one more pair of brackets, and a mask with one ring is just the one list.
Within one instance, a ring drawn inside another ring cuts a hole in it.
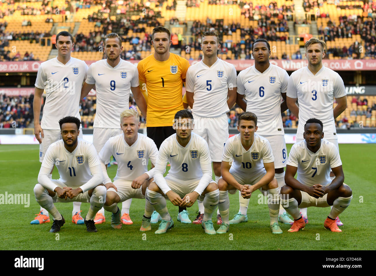
[{"label": "white football jersey with blue number 6 on the chest", "polygon": [[281,117],[281,93],[286,93],[288,74],[285,69],[270,64],[263,73],[255,65],[241,71],[237,92],[244,95],[247,110],[257,116],[259,135],[284,135]]}]

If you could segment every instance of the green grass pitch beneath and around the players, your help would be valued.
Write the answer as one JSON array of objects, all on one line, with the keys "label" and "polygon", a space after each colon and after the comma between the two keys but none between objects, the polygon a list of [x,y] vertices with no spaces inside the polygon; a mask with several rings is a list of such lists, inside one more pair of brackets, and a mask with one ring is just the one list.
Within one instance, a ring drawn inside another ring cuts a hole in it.
[{"label": "green grass pitch beneath and around the players", "polygon": [[[290,151],[291,145],[288,145]],[[120,230],[111,228],[111,214],[106,212],[106,223],[98,225],[97,233],[86,232],[85,225],[71,222],[72,203],[58,203],[56,207],[65,218],[59,235],[49,232],[51,223],[30,225],[39,205],[35,201],[33,187],[37,183],[40,163],[37,145],[0,145],[0,194],[30,194],[30,207],[24,205],[0,205],[0,236],[2,250],[370,250],[374,249],[374,221],[376,196],[374,178],[376,147],[371,144],[341,144],[340,152],[345,183],[353,190],[350,207],[341,214],[344,223],[342,233],[324,229],[323,223],[329,208],[309,208],[309,224],[298,233],[289,233],[289,225],[281,225],[283,234],[273,235],[269,228],[267,205],[258,204],[258,191],[252,195],[248,222],[231,225],[223,235],[206,235],[201,225],[185,225],[177,221],[177,207],[169,201],[168,210],[175,226],[166,234],[156,235],[157,224],[152,231],[139,231],[144,210],[144,200],[133,199],[130,217],[133,225],[123,225]],[[117,166],[109,168],[109,176],[115,176]],[[58,178],[58,170],[53,172]],[[121,207],[121,205],[119,205]],[[89,204],[82,204],[85,216]],[[238,212],[238,193],[230,195],[230,219]],[[188,208],[190,219],[196,217],[197,204]],[[52,221],[52,218],[51,218]],[[213,216],[215,229],[216,216]]]}]

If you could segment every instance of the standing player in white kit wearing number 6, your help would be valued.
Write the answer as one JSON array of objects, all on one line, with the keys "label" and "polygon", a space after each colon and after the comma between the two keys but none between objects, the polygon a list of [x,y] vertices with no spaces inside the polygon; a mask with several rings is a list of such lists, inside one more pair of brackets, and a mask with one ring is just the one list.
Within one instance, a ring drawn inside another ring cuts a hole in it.
[{"label": "standing player in white kit wearing number 6", "polygon": [[[266,39],[256,39],[252,43],[252,55],[255,65],[241,71],[237,78],[237,104],[241,109],[250,111],[257,116],[257,134],[266,138],[273,149],[275,178],[278,187],[285,185],[285,170],[287,150],[285,131],[281,113],[287,110],[286,90],[288,74],[285,69],[270,64],[270,44]],[[246,100],[243,99],[245,96]],[[240,223],[247,220],[249,199],[244,199],[239,193],[239,213],[230,223]],[[285,224],[293,224],[282,206],[278,219]]]}]

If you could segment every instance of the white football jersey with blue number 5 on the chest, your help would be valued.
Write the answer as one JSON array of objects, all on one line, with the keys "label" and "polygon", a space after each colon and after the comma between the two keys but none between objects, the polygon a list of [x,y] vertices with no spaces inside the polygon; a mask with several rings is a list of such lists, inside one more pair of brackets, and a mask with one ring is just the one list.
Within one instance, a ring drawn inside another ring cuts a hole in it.
[{"label": "white football jersey with blue number 5 on the chest", "polygon": [[185,84],[194,93],[193,115],[219,117],[230,111],[227,94],[236,87],[236,69],[219,58],[210,68],[201,60],[188,68]]}]

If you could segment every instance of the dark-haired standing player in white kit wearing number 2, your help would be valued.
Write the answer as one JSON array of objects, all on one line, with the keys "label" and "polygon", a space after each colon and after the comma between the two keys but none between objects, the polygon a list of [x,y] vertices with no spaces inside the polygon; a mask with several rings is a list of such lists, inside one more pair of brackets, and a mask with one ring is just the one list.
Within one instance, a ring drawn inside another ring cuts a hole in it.
[{"label": "dark-haired standing player in white kit wearing number 2", "polygon": [[[79,95],[88,72],[88,66],[83,60],[71,57],[74,43],[70,33],[59,32],[56,35],[55,46],[58,49],[58,56],[41,63],[35,81],[34,134],[39,142],[40,162],[43,161],[47,148],[61,139],[58,120],[65,116],[81,118]],[[41,124],[39,124],[43,90],[46,91],[46,97]],[[79,129],[82,130],[82,127],[79,126]],[[79,138],[82,138],[82,131]],[[53,167],[49,174],[50,179],[52,179],[52,171]],[[80,215],[80,205],[80,202],[73,202],[72,222],[76,224],[84,223]],[[50,217],[48,211],[41,207],[38,216],[30,223],[44,222],[50,222]]]}]

